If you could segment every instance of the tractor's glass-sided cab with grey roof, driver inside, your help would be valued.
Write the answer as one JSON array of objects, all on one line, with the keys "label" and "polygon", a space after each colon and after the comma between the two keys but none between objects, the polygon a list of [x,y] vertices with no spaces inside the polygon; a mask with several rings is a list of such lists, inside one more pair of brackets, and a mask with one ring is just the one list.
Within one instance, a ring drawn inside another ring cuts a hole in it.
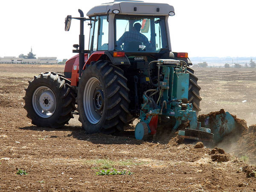
[{"label": "tractor's glass-sided cab with grey roof, driver inside", "polygon": [[169,15],[175,15],[172,6],[143,1],[114,0],[93,7],[87,13],[93,19],[89,50],[128,53],[171,51]]}]

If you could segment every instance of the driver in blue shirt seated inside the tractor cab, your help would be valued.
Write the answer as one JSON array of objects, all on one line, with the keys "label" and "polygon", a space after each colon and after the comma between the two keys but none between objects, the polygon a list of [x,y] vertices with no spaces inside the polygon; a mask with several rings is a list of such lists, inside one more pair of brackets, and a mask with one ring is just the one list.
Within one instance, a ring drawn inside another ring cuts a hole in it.
[{"label": "driver in blue shirt seated inside the tractor cab", "polygon": [[126,31],[118,41],[116,41],[116,46],[120,47],[122,43],[124,46],[127,45],[131,41],[139,41],[142,42],[146,47],[150,46],[150,42],[148,38],[140,33],[141,25],[140,23],[134,23],[134,27],[131,31]]}]

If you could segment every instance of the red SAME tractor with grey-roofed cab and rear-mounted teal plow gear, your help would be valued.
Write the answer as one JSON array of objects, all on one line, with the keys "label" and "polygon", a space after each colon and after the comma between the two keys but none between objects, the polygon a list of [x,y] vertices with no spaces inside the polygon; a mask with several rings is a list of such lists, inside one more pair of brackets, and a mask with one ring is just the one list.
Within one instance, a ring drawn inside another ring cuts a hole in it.
[{"label": "red SAME tractor with grey-roofed cab and rear-mounted teal plow gear", "polygon": [[[160,124],[176,131],[189,122],[184,138],[212,140],[210,128],[197,121],[201,97],[186,52],[173,52],[168,18],[173,6],[138,0],[114,0],[95,6],[80,21],[77,55],[59,73],[41,73],[29,81],[24,97],[32,124],[60,128],[73,114],[88,134],[122,131],[135,118],[136,139],[154,135]],[[84,21],[90,28],[84,49]]]}]

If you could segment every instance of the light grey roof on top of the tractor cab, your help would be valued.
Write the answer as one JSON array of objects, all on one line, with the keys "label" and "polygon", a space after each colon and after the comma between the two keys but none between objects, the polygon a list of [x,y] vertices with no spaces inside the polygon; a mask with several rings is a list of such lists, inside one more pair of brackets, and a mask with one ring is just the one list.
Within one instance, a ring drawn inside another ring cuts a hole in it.
[{"label": "light grey roof on top of the tractor cab", "polygon": [[111,3],[103,3],[95,6],[87,12],[88,17],[96,15],[113,14],[113,10],[119,10],[121,15],[169,15],[174,12],[173,6],[167,3],[144,3],[143,1],[115,0]]}]

